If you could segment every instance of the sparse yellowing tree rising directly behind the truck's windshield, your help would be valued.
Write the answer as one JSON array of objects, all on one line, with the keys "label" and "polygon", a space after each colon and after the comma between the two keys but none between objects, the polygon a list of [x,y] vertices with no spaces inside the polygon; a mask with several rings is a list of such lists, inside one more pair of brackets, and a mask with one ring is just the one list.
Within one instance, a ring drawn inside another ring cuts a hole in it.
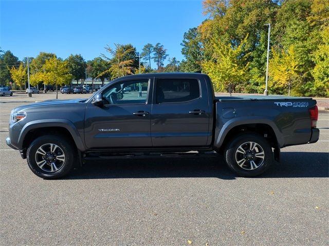
[{"label": "sparse yellowing tree rising directly behind the truck's windshield", "polygon": [[106,60],[109,61],[111,67],[101,72],[98,77],[105,74],[111,74],[111,79],[115,79],[127,74],[133,74],[136,68],[136,66],[134,67],[136,55],[133,57],[134,52],[136,54],[136,48],[132,45],[114,45],[115,49],[112,49],[109,46],[105,47],[105,50],[112,55],[112,58],[101,54]]}]

